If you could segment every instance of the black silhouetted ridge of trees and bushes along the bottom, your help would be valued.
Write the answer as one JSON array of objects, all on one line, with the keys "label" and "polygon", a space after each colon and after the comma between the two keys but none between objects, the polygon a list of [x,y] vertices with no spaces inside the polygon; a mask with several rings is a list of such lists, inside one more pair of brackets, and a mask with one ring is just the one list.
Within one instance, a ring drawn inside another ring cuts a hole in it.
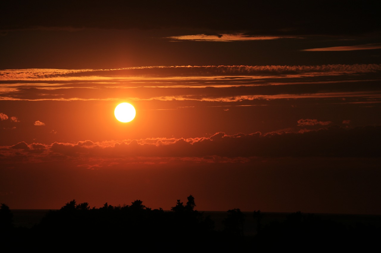
[{"label": "black silhouetted ridge of trees and bushes along the bottom", "polygon": [[[170,211],[150,209],[136,200],[130,206],[90,208],[87,202],[66,203],[50,210],[32,228],[15,227],[13,213],[2,204],[0,231],[3,246],[9,249],[38,248],[60,251],[80,249],[163,250],[367,250],[377,246],[379,222],[338,222],[313,214],[296,212],[282,219],[269,220],[266,213],[228,210],[223,226],[215,228],[210,216],[195,210],[192,195],[187,202],[177,200]],[[251,218],[255,231],[248,233],[245,221]],[[264,222],[266,220],[266,222]],[[245,232],[246,231],[246,232]]]}]

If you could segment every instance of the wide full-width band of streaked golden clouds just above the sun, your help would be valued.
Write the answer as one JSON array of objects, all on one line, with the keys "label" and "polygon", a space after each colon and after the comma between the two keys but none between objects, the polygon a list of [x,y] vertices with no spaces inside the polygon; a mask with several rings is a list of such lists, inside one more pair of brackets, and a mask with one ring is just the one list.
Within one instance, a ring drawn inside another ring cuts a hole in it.
[{"label": "wide full-width band of streaked golden clouds just above the sun", "polygon": [[381,64],[3,70],[0,99],[202,101],[205,104],[218,101],[234,106],[244,102],[263,104],[261,101],[275,99],[345,97],[348,99],[345,103],[362,103],[368,98],[378,103],[380,74]]}]

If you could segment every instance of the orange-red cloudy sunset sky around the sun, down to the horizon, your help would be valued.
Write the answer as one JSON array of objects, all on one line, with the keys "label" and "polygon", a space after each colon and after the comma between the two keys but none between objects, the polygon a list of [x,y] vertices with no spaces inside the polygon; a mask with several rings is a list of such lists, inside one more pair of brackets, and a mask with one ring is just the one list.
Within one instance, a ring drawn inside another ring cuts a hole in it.
[{"label": "orange-red cloudy sunset sky around the sun, down to the horizon", "polygon": [[381,214],[378,2],[152,2],[2,3],[1,203]]}]

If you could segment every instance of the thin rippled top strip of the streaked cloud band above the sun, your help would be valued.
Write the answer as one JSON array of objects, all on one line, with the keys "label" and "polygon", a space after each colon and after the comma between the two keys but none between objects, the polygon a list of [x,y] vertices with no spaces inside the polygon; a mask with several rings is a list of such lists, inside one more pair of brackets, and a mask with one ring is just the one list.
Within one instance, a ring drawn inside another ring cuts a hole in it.
[{"label": "thin rippled top strip of the streaked cloud band above the sun", "polygon": [[[0,80],[3,81],[74,81],[74,80],[140,80],[155,79],[157,77],[204,77],[204,76],[277,76],[299,74],[355,74],[377,73],[381,71],[381,64],[331,64],[331,65],[220,65],[220,66],[144,66],[119,68],[108,70],[60,70],[60,69],[13,69],[0,71]],[[147,76],[149,79],[147,79]],[[14,85],[13,85],[14,86]],[[8,89],[13,88],[9,87]]]}]

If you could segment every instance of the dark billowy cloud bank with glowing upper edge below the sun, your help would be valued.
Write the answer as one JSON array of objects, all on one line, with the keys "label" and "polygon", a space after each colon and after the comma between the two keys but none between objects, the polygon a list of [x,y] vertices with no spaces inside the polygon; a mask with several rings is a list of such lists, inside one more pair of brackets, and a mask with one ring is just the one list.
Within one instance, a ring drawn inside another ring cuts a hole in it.
[{"label": "dark billowy cloud bank with glowing upper edge below the sun", "polygon": [[[190,139],[155,138],[96,143],[80,141],[77,144],[54,142],[50,145],[20,142],[10,147],[3,146],[1,153],[4,163],[16,160],[30,162],[74,159],[82,163],[85,160],[102,160],[102,163],[107,164],[118,160],[117,163],[129,163],[146,159],[142,157],[155,158],[154,160],[168,157],[380,157],[380,131],[381,126],[330,126],[287,133],[227,135],[219,132],[210,137]],[[21,157],[23,159],[20,160]],[[218,161],[213,159],[210,161]]]}]

